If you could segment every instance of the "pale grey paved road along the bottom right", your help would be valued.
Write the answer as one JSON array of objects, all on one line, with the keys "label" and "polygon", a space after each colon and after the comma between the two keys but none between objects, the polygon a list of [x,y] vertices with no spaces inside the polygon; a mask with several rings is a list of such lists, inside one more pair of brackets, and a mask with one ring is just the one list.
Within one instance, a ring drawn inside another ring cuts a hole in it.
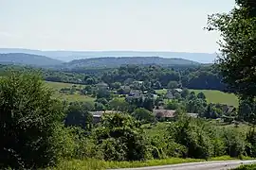
[{"label": "pale grey paved road along the bottom right", "polygon": [[229,170],[236,168],[241,164],[256,163],[256,160],[252,161],[205,161],[205,162],[192,162],[181,163],[174,165],[164,166],[151,166],[141,168],[123,168],[119,170]]}]

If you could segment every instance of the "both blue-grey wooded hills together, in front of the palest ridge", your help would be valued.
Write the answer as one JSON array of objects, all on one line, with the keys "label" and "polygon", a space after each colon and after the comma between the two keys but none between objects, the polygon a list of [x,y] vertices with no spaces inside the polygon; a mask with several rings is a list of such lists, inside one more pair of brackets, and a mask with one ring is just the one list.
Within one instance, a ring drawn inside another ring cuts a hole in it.
[{"label": "both blue-grey wooded hills together, in front of the palest ridge", "polygon": [[14,65],[30,65],[52,67],[56,69],[73,68],[113,68],[122,65],[160,65],[160,66],[187,66],[200,65],[200,62],[189,59],[160,58],[160,57],[101,57],[90,59],[74,59],[64,62],[46,56],[25,53],[0,54],[0,63]]}]

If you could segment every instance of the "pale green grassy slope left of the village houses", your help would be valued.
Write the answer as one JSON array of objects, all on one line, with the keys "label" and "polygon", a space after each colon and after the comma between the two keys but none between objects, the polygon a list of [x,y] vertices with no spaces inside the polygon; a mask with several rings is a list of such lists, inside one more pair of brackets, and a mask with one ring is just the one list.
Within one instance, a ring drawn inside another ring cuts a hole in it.
[{"label": "pale green grassy slope left of the village houses", "polygon": [[[86,95],[81,95],[79,93],[74,93],[74,94],[63,94],[63,93],[58,93],[62,88],[71,88],[74,84],[70,83],[63,83],[63,82],[51,82],[51,81],[46,81],[46,84],[51,87],[54,91],[56,91],[56,96],[67,100],[67,101],[82,101],[82,102],[93,102],[95,98],[86,96]],[[82,85],[77,85],[78,87],[84,87]]]}]

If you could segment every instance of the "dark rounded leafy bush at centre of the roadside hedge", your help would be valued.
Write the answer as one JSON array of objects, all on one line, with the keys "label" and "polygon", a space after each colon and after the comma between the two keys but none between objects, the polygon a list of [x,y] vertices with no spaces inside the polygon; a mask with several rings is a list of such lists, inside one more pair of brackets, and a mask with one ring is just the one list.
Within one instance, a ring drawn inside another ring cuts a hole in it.
[{"label": "dark rounded leafy bush at centre of the roadside hedge", "polygon": [[139,124],[126,114],[106,114],[95,131],[104,160],[137,161],[151,157],[149,144]]}]

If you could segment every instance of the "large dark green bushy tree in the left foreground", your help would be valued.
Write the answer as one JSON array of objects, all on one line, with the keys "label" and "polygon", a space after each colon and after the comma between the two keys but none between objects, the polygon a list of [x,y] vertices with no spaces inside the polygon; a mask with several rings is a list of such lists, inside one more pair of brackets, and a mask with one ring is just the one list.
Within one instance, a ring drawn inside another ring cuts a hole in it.
[{"label": "large dark green bushy tree in the left foreground", "polygon": [[0,114],[1,169],[45,167],[68,155],[72,142],[61,125],[63,106],[40,76],[20,72],[3,76]]}]

